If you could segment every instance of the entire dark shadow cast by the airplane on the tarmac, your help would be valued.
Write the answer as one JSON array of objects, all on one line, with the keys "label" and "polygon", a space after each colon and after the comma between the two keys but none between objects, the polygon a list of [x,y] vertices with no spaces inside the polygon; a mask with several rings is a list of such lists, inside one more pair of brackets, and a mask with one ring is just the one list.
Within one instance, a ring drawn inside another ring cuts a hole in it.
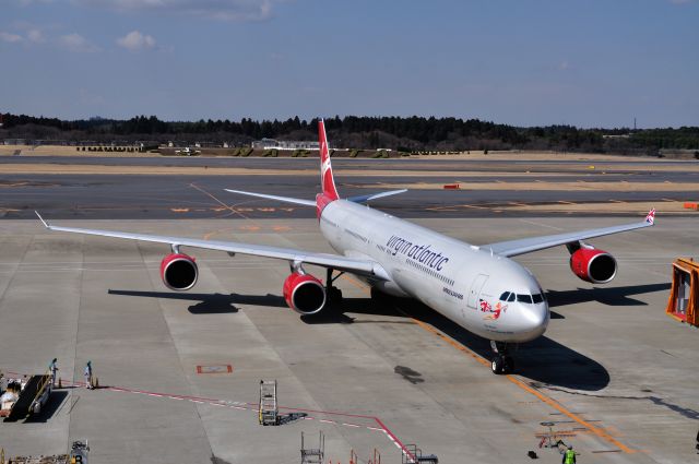
[{"label": "entire dark shadow cast by the airplane on the tarmac", "polygon": [[[607,306],[644,306],[643,301],[630,298],[630,295],[650,294],[670,289],[670,283],[632,285],[623,287],[579,288],[576,290],[547,292],[550,307],[561,307],[589,301],[597,301]],[[110,295],[126,295],[147,298],[165,298],[199,301],[189,307],[197,314],[215,314],[237,312],[238,305],[253,305],[286,308],[284,298],[275,295],[222,295],[222,294],[176,294],[167,292],[109,290]],[[391,317],[387,320],[356,320],[351,314],[370,314]],[[395,318],[399,318],[398,320]],[[431,310],[419,301],[407,298],[381,297],[344,298],[341,307],[333,307],[319,316],[301,316],[308,324],[332,323],[412,323],[414,318],[425,322],[485,359],[490,359],[493,352],[489,341],[472,334],[451,320]],[[553,319],[565,319],[552,312]],[[514,353],[516,372],[536,385],[538,383],[584,391],[597,391],[609,383],[609,372],[600,362],[578,353],[558,342],[543,335],[535,341],[522,344]]]}]

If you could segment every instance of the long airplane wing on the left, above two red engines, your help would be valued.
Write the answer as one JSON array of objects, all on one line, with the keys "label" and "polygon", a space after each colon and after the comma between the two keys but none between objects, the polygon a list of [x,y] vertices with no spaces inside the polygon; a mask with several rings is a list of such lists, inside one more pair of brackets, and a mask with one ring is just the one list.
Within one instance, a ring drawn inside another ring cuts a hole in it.
[{"label": "long airplane wing on the left, above two red engines", "polygon": [[339,254],[316,253],[311,251],[295,250],[293,248],[269,247],[264,245],[239,243],[235,241],[199,240],[196,238],[166,237],[157,235],[133,234],[116,230],[83,229],[75,227],[60,227],[48,224],[35,212],[44,226],[49,230],[96,235],[102,237],[125,238],[128,240],[150,241],[155,243],[167,243],[173,248],[192,247],[204,250],[218,250],[227,253],[251,254],[256,257],[273,258],[286,260],[291,263],[315,264],[322,267],[330,267],[336,271],[347,271],[353,274],[366,275],[383,281],[390,279],[386,270],[376,261],[360,260],[341,257]]}]

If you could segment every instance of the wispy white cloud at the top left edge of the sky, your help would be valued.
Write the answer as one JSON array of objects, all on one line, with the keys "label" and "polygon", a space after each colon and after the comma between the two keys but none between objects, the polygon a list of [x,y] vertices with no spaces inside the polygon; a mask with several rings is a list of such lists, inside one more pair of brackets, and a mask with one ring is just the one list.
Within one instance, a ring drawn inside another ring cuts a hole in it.
[{"label": "wispy white cloud at the top left edge of the sky", "polygon": [[72,0],[87,7],[119,11],[155,11],[222,21],[263,21],[280,0]]}]

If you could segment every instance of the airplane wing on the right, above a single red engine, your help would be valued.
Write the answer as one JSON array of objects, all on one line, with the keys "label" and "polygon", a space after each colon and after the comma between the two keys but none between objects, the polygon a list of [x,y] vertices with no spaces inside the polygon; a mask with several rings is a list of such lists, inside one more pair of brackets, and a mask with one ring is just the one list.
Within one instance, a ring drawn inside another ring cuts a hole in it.
[{"label": "airplane wing on the right, above a single red engine", "polygon": [[640,223],[624,224],[620,226],[602,227],[599,229],[581,230],[576,233],[565,233],[547,235],[543,237],[523,238],[520,240],[499,241],[497,243],[482,245],[482,249],[490,249],[494,253],[502,257],[516,257],[518,254],[531,253],[532,251],[544,250],[559,245],[571,243],[589,238],[602,237],[605,235],[618,234],[628,230],[650,227],[655,223],[655,210],[651,210],[645,216],[645,221]]}]

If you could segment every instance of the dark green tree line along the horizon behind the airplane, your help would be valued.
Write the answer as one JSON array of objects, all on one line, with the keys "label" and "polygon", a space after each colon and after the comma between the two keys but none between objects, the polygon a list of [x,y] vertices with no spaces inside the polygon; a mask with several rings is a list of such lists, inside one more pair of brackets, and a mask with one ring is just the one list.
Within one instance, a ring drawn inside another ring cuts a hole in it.
[{"label": "dark green tree line along the horizon behind the airplane", "polygon": [[[262,138],[315,140],[318,119],[163,121],[155,116],[128,120],[90,118],[61,120],[26,115],[2,115],[3,139],[169,140],[248,144]],[[573,126],[514,127],[479,119],[436,117],[359,117],[325,119],[333,145],[400,151],[556,150],[579,152],[699,151],[699,127],[678,129],[579,129]],[[616,136],[609,136],[616,135]]]}]

